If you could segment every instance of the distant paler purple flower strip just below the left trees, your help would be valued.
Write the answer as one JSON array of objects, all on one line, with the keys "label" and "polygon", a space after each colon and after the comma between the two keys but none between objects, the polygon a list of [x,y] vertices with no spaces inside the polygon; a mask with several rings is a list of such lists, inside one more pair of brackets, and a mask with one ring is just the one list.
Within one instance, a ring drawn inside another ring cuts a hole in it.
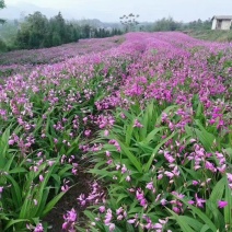
[{"label": "distant paler purple flower strip just below the left trees", "polygon": [[101,39],[80,39],[78,43],[66,44],[58,47],[16,50],[1,54],[0,78],[13,73],[26,72],[36,66],[53,65],[65,61],[69,58],[91,53],[100,53],[123,43],[124,38],[114,36]]}]

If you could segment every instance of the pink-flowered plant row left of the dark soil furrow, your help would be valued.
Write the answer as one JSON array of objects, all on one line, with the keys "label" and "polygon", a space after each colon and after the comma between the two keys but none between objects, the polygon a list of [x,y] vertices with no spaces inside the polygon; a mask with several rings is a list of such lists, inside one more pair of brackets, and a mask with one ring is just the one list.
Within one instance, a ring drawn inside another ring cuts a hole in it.
[{"label": "pink-flowered plant row left of the dark soil furrow", "polygon": [[[85,63],[91,73],[77,79],[67,71],[67,63],[58,63],[61,76],[48,80],[53,69],[38,69],[23,76],[15,74],[1,85],[0,126],[0,230],[45,231],[40,223],[62,196],[77,183],[82,143],[89,138],[89,128],[97,127],[95,102],[111,92],[123,72],[126,58],[116,60],[118,67],[94,61]],[[111,67],[112,66],[112,67]],[[121,70],[121,71],[120,71]],[[47,77],[42,73],[46,72]],[[73,70],[72,70],[73,71]],[[107,76],[107,77],[106,77]],[[108,88],[107,91],[105,90]],[[78,103],[78,104],[77,104]],[[92,115],[92,121],[86,116]]]}]

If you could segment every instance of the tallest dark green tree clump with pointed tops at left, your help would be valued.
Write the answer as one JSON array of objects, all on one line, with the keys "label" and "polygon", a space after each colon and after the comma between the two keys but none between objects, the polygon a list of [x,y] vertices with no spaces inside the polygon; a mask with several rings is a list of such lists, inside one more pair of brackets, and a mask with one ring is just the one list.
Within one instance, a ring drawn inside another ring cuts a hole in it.
[{"label": "tallest dark green tree clump with pointed tops at left", "polygon": [[62,18],[61,12],[48,20],[40,12],[25,18],[15,39],[19,48],[40,48],[78,42],[80,32]]}]

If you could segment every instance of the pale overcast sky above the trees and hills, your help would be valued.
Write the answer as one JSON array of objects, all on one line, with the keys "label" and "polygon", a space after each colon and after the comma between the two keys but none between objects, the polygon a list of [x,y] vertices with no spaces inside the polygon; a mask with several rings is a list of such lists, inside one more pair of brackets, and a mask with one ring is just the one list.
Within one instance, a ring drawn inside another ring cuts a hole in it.
[{"label": "pale overcast sky above the trees and hills", "polygon": [[129,13],[139,14],[139,21],[150,22],[164,16],[189,22],[232,14],[232,0],[23,0],[24,3],[22,0],[5,0],[9,9],[20,2],[21,5],[30,3],[48,8],[51,12],[61,11],[66,19],[98,19],[104,22],[118,22],[119,16]]}]

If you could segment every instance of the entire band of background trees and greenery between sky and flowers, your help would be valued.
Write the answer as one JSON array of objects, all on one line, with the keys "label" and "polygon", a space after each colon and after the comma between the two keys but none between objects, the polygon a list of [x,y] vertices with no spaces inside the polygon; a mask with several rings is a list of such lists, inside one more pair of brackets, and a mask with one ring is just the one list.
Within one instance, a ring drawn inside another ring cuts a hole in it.
[{"label": "entire band of background trees and greenery between sky and flowers", "polygon": [[[4,7],[4,2],[0,1],[0,9]],[[61,12],[47,19],[40,12],[35,12],[21,20],[0,20],[0,51],[54,47],[78,42],[80,38],[103,38],[131,31],[181,31],[200,39],[232,40],[231,32],[211,31],[210,19],[184,23],[170,16],[152,23],[139,23],[138,18],[139,15],[130,13],[120,16],[120,23],[107,24],[98,20],[66,21]]]}]

